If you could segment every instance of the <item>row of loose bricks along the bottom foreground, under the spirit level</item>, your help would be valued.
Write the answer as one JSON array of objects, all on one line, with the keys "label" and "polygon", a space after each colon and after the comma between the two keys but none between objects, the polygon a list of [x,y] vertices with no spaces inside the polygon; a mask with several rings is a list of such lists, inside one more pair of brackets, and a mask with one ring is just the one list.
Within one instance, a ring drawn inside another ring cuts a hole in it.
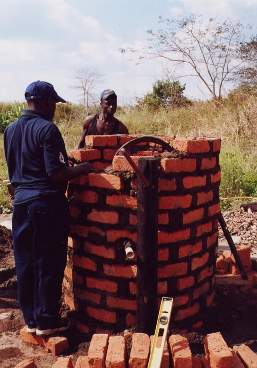
[{"label": "row of loose bricks along the bottom foreground, under the spirit level", "polygon": [[[151,341],[151,343],[150,343]],[[152,348],[153,336],[135,333],[132,335],[128,353],[125,336],[93,335],[87,356],[60,357],[52,368],[146,368]],[[257,355],[245,344],[229,348],[221,333],[209,334],[205,338],[205,356],[193,356],[188,339],[171,335],[161,360],[160,368],[256,368]],[[33,359],[23,360],[14,368],[36,368]]]}]

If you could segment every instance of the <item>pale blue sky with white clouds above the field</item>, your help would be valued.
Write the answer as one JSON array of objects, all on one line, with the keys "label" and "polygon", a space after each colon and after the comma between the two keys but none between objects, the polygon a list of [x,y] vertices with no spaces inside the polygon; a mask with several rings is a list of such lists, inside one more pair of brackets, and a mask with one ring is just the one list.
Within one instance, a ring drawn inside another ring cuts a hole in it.
[{"label": "pale blue sky with white clouds above the field", "polygon": [[[94,67],[112,88],[120,105],[152,91],[162,78],[160,62],[136,65],[121,47],[141,47],[147,30],[158,30],[159,16],[171,18],[200,13],[225,16],[252,25],[256,34],[257,0],[1,0],[0,101],[23,101],[28,84],[50,82],[58,94],[78,103],[72,85],[76,69]],[[188,98],[204,100],[197,81],[183,79]]]}]

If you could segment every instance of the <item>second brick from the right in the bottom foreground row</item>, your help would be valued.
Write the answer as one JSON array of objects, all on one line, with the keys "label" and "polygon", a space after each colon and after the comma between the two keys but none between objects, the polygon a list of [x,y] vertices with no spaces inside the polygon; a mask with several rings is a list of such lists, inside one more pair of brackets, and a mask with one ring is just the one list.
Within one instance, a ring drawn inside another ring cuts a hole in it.
[{"label": "second brick from the right in the bottom foreground row", "polygon": [[220,332],[205,337],[205,354],[210,366],[215,368],[232,368],[233,356]]}]

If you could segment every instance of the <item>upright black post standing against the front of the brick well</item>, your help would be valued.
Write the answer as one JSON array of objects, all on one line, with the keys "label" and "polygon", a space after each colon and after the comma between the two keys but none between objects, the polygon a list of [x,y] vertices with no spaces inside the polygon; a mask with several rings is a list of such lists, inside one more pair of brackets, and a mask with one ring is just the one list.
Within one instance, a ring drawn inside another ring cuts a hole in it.
[{"label": "upright black post standing against the front of the brick well", "polygon": [[140,157],[138,167],[150,186],[138,178],[137,332],[153,335],[158,314],[158,159]]}]

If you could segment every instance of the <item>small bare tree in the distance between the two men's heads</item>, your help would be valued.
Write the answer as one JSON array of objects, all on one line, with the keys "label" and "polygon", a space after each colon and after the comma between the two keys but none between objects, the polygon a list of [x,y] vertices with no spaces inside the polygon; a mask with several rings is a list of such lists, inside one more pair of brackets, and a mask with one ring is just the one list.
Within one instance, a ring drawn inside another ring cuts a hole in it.
[{"label": "small bare tree in the distance between the two men's heads", "polygon": [[103,75],[94,67],[82,67],[76,69],[74,72],[73,78],[77,81],[77,84],[71,87],[82,91],[81,101],[85,105],[87,111],[89,102],[94,101],[94,94],[92,91],[98,84],[102,83],[102,77]]}]

